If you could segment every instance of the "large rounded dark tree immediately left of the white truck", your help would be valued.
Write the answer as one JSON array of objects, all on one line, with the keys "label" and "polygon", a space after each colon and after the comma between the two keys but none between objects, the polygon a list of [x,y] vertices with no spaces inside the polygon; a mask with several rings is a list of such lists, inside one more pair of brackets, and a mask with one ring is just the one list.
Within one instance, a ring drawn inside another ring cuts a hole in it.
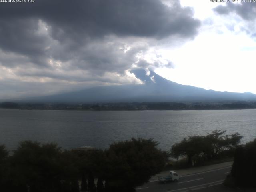
[{"label": "large rounded dark tree immediately left of the white truck", "polygon": [[111,144],[106,151],[108,162],[104,170],[108,188],[113,192],[134,190],[160,172],[166,156],[156,146],[152,139],[142,138]]}]

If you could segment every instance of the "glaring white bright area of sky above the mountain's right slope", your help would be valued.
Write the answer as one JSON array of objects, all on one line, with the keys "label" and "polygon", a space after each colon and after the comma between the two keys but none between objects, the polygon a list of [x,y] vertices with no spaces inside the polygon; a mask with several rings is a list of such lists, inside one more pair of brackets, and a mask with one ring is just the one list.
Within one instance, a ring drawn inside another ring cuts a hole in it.
[{"label": "glaring white bright area of sky above the mountain's right slope", "polygon": [[214,17],[210,23],[202,26],[200,34],[193,41],[161,50],[164,58],[172,60],[175,68],[158,68],[155,72],[180,84],[256,94],[256,42],[243,30],[245,22],[215,14],[210,5],[202,6],[202,12],[196,3],[194,8],[202,14],[201,18],[213,14]]}]

